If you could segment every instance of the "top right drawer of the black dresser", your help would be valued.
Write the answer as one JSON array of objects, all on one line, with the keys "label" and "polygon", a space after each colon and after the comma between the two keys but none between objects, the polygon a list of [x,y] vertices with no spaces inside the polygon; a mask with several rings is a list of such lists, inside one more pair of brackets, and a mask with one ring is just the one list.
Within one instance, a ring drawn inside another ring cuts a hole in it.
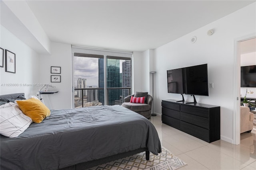
[{"label": "top right drawer of the black dresser", "polygon": [[184,113],[189,113],[192,115],[200,116],[200,117],[205,117],[209,118],[209,110],[208,109],[201,109],[198,107],[192,107],[192,106],[180,106],[180,111]]}]

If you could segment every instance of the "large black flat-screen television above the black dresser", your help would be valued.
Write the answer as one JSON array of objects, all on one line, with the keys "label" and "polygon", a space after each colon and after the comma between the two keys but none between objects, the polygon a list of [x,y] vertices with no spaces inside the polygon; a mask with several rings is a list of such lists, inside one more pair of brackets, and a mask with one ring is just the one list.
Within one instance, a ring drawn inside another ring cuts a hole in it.
[{"label": "large black flat-screen television above the black dresser", "polygon": [[168,93],[208,96],[207,64],[167,70]]}]

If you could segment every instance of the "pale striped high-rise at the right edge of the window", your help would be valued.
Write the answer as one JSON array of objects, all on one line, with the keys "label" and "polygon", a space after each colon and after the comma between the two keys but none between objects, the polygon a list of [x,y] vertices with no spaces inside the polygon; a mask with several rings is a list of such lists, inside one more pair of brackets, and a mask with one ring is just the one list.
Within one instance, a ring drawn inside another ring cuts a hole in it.
[{"label": "pale striped high-rise at the right edge of the window", "polygon": [[[132,86],[132,69],[131,61],[126,60],[122,63],[122,87],[131,87]],[[129,96],[129,89],[122,90],[122,99],[126,96]]]}]

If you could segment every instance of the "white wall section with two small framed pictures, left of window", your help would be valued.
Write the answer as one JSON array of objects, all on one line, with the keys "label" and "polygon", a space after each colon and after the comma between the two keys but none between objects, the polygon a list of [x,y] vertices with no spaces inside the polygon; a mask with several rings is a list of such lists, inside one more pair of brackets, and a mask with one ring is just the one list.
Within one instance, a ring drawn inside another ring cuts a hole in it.
[{"label": "white wall section with two small framed pictures, left of window", "polygon": [[[51,83],[51,75],[60,75],[61,82],[52,82],[56,88],[48,90],[59,90],[58,93],[43,95],[45,105],[50,109],[72,108],[72,55],[71,45],[63,43],[51,43],[51,55],[40,56],[40,81]],[[51,66],[61,67],[61,74],[51,74]]]}]

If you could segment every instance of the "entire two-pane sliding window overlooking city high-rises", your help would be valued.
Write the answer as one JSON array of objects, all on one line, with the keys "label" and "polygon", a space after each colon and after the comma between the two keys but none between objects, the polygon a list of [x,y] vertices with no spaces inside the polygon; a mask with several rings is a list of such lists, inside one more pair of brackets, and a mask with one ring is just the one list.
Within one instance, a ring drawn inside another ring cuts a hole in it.
[{"label": "entire two-pane sliding window overlooking city high-rises", "polygon": [[131,57],[95,54],[97,52],[102,54],[102,51],[93,51],[92,54],[73,53],[75,108],[121,105],[124,98],[130,95]]}]

